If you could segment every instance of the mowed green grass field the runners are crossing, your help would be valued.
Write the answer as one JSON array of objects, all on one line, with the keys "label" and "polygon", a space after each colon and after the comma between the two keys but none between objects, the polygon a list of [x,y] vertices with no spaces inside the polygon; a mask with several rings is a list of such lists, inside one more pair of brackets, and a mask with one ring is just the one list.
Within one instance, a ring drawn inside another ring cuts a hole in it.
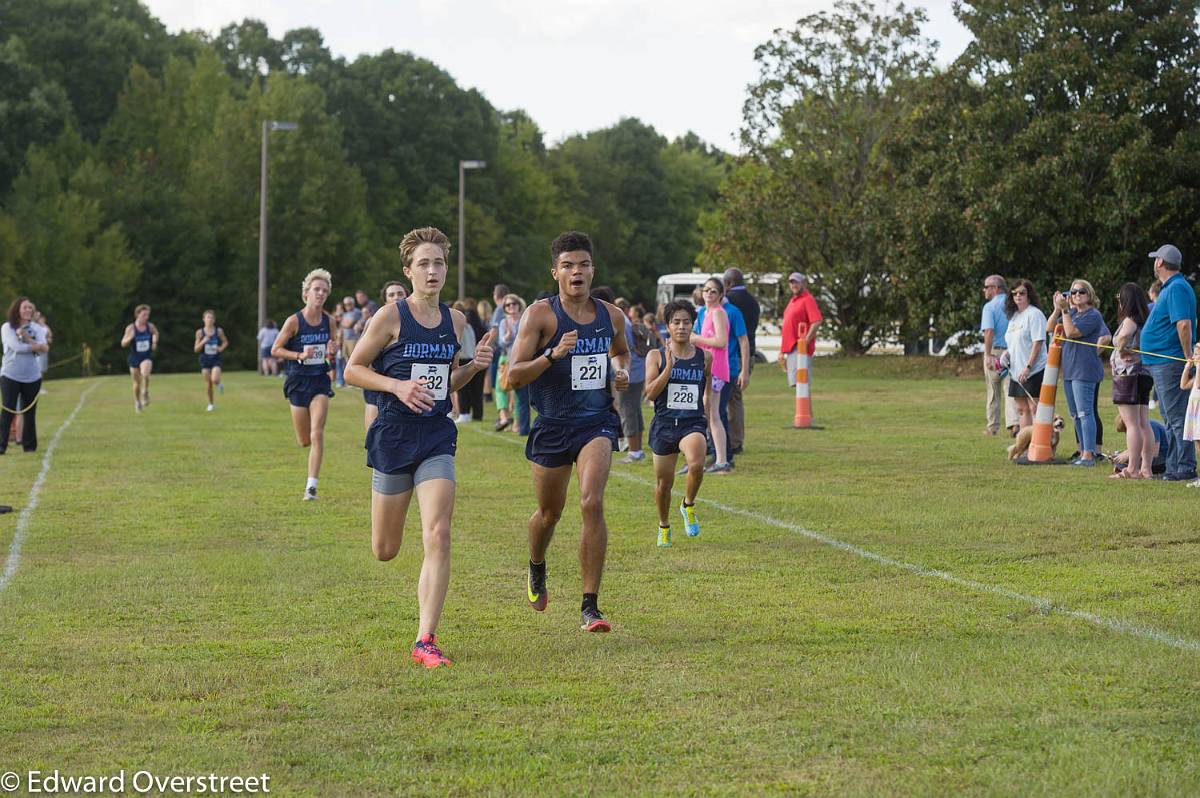
[{"label": "mowed green grass field the runners are crossing", "polygon": [[[701,498],[1200,640],[1200,493],[1009,466],[979,434],[982,379],[924,371],[818,360],[824,428],[798,432],[761,368],[738,472]],[[533,612],[529,470],[491,410],[460,437],[456,665],[426,672],[416,514],[374,562],[355,391],[312,504],[280,380],[229,374],[206,414],[198,374],[156,377],[140,416],[126,378],[100,382],[0,594],[0,772],[265,772],[311,796],[1200,791],[1200,652],[703,504],[702,536],[659,550],[648,464],[608,486],[613,634],[578,631],[574,488]],[[49,385],[43,448],[88,384]],[[0,502],[40,464],[10,449]]]}]

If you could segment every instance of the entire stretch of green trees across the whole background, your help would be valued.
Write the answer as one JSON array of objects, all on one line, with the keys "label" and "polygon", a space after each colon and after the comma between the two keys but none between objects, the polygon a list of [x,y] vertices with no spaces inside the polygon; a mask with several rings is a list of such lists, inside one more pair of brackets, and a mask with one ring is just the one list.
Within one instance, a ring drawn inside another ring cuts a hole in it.
[{"label": "entire stretch of green trees across the whole background", "polygon": [[756,49],[733,156],[636,119],[547,145],[426,59],[348,61],[311,28],[172,35],[137,0],[0,0],[0,295],[118,365],[134,304],[167,367],[191,367],[214,307],[250,366],[274,119],[300,125],[271,134],[277,319],[314,265],[335,296],[373,293],[407,229],[454,236],[468,158],[487,161],[468,176],[473,295],[532,296],[547,242],[582,228],[602,281],[643,301],[668,271],[803,271],[847,352],[974,326],[992,272],[1086,277],[1112,317],[1146,252],[1176,244],[1186,274],[1200,256],[1198,4],[959,0],[972,41],[938,65],[922,10],[839,0]]}]

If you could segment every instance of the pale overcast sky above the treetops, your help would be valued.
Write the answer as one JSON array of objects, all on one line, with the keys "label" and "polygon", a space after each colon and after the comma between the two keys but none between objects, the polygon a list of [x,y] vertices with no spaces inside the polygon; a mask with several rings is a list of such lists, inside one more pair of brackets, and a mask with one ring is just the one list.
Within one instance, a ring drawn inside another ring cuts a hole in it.
[{"label": "pale overcast sky above the treetops", "polygon": [[[736,150],[754,48],[830,0],[143,0],[172,31],[246,17],[276,38],[317,28],[354,60],[389,47],[446,70],[497,108],[523,108],[547,143],[636,116]],[[882,5],[882,4],[881,4]],[[970,36],[950,0],[917,1],[950,61]]]}]

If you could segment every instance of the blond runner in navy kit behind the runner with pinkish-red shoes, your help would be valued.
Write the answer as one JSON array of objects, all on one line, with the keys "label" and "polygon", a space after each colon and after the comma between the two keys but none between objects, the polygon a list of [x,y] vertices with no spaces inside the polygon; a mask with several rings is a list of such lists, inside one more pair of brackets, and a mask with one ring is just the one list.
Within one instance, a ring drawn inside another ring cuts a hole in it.
[{"label": "blond runner in navy kit behind the runner with pinkish-red shoes", "polygon": [[334,317],[325,312],[332,288],[332,277],[324,269],[305,275],[300,283],[305,305],[287,318],[271,344],[271,356],[286,362],[283,396],[292,406],[296,443],[308,449],[308,479],[301,497],[305,502],[317,500],[317,479],[325,454],[325,416],[329,397],[334,395],[330,377]]}]

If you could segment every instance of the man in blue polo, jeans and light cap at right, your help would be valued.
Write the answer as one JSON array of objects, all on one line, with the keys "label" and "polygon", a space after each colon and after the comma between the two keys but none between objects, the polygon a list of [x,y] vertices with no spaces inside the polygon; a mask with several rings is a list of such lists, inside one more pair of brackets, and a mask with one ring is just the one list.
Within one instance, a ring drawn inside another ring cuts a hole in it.
[{"label": "man in blue polo, jeans and light cap at right", "polygon": [[1196,478],[1196,452],[1192,442],[1183,439],[1188,392],[1180,388],[1180,376],[1187,366],[1181,361],[1190,355],[1195,342],[1196,293],[1180,274],[1183,256],[1177,247],[1164,244],[1150,257],[1163,289],[1141,331],[1141,348],[1146,353],[1142,362],[1154,378],[1158,410],[1174,438],[1163,479],[1192,480]]}]

